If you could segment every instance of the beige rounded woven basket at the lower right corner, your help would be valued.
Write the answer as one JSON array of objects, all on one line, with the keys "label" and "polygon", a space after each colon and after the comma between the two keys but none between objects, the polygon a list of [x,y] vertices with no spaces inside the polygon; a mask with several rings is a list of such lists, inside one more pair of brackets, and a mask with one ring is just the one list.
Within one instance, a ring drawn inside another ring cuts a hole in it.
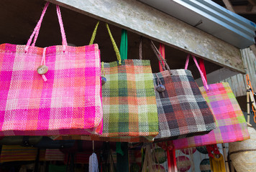
[{"label": "beige rounded woven basket at the lower right corner", "polygon": [[229,153],[237,172],[256,171],[256,130],[248,127],[250,139],[229,143]]}]

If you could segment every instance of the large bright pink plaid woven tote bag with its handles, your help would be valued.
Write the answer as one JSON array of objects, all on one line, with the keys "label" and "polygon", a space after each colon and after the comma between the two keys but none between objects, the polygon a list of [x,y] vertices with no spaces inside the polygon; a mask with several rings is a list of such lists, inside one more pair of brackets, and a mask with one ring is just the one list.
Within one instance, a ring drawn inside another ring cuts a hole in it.
[{"label": "large bright pink plaid woven tote bag with its handles", "polygon": [[35,47],[48,4],[27,45],[0,44],[0,135],[102,132],[98,45],[68,46],[57,6],[63,44]]}]

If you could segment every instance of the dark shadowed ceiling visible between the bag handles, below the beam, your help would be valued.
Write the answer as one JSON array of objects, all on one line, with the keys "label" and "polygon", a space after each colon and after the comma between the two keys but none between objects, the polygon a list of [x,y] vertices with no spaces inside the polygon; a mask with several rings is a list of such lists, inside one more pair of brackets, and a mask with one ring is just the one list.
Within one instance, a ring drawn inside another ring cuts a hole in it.
[{"label": "dark shadowed ceiling visible between the bag handles, below the beam", "polygon": [[[44,0],[1,0],[0,1],[0,44],[27,44],[30,34],[40,18]],[[98,22],[89,16],[85,16],[75,11],[60,8],[63,16],[63,24],[68,43],[76,46],[88,44],[91,39],[93,29]],[[113,37],[119,47],[122,28],[109,26]],[[128,59],[138,58],[138,46],[140,35],[128,32]],[[111,62],[116,60],[111,40],[103,23],[99,25],[95,42],[101,49],[101,60]],[[42,27],[37,41],[37,47],[47,47],[55,44],[61,44],[60,27],[58,26],[58,17],[55,6],[50,5],[42,22]],[[158,43],[155,42],[158,47]],[[165,46],[165,54],[168,64],[172,69],[183,69],[186,62],[186,53],[173,47]],[[147,39],[143,43],[143,58],[150,59],[153,72],[158,71],[157,57],[150,48]],[[205,62],[206,72],[213,72],[220,69],[219,65],[211,62]],[[189,67],[195,78],[199,77],[196,67],[191,61]]]}]

